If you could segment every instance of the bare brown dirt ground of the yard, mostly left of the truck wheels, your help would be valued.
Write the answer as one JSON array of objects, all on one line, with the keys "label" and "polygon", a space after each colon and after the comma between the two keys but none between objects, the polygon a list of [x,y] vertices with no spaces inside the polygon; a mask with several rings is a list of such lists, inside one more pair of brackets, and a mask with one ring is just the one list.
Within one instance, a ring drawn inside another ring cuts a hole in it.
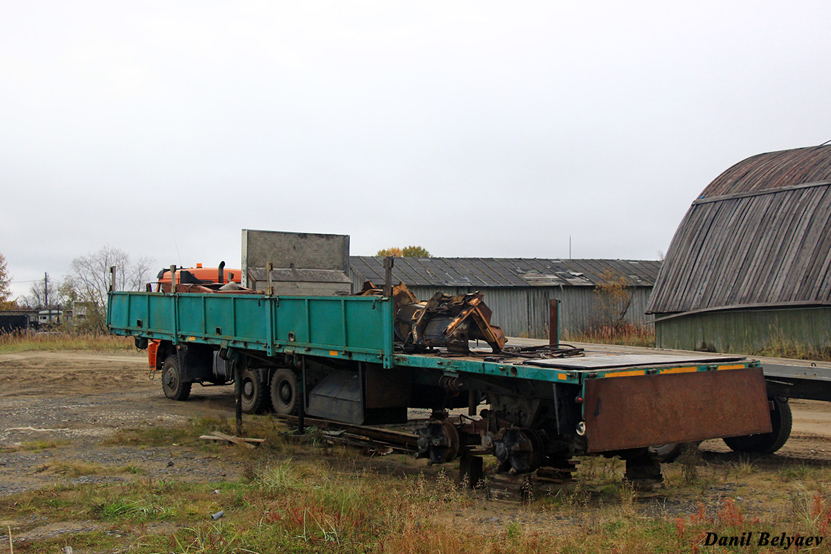
[{"label": "bare brown dirt ground of the yard, mostly left of the truck wheels", "polygon": [[[151,479],[217,482],[237,478],[242,465],[210,451],[179,444],[107,443],[122,429],[180,424],[201,416],[233,419],[233,388],[194,385],[189,401],[173,402],[163,395],[158,378],[149,377],[143,353],[0,355],[0,497],[53,483],[117,483],[131,477],[72,477],[42,470],[57,461],[135,466]],[[778,453],[757,458],[760,467],[770,465],[776,471],[786,460],[831,465],[831,403],[792,400],[792,406],[791,438]],[[59,444],[60,448],[38,448],[38,444]],[[704,459],[735,456],[720,440],[701,444],[701,454]],[[513,510],[500,509],[506,514]],[[499,512],[485,520],[499,526],[504,523],[502,517]],[[476,522],[481,525],[483,521],[479,517]],[[0,525],[6,524],[0,513]],[[54,532],[82,530],[64,525]],[[30,537],[50,532],[39,527]]]}]

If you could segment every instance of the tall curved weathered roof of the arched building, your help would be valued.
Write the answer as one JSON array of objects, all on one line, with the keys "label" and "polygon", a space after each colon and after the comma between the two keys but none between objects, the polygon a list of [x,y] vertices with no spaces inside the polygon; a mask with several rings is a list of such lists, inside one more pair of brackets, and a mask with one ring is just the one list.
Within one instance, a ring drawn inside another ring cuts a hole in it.
[{"label": "tall curved weathered roof of the arched building", "polygon": [[831,303],[831,146],[759,154],[686,213],[647,310]]}]

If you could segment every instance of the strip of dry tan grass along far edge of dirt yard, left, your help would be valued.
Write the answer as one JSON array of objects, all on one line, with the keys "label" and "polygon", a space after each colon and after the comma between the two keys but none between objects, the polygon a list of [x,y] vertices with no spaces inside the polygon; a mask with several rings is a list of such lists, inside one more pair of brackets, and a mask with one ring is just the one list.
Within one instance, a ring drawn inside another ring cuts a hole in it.
[{"label": "strip of dry tan grass along far edge of dirt yard, left", "polygon": [[0,354],[25,351],[133,351],[130,336],[57,331],[0,334]]}]

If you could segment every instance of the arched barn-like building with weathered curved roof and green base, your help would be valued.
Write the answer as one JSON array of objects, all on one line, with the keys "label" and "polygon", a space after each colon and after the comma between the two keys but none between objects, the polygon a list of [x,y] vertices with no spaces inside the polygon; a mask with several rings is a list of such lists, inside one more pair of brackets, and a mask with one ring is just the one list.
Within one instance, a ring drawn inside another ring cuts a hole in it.
[{"label": "arched barn-like building with weathered curved roof and green base", "polygon": [[831,146],[757,154],[692,203],[648,310],[656,344],[831,346]]}]

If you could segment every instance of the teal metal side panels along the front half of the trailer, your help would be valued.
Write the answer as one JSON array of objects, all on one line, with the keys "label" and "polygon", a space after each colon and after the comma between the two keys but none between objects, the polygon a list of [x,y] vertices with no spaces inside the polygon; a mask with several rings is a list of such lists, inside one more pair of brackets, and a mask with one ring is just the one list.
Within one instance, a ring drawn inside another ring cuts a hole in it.
[{"label": "teal metal side panels along the front half of the trailer", "polygon": [[111,292],[107,325],[118,335],[175,344],[393,363],[388,298]]}]

